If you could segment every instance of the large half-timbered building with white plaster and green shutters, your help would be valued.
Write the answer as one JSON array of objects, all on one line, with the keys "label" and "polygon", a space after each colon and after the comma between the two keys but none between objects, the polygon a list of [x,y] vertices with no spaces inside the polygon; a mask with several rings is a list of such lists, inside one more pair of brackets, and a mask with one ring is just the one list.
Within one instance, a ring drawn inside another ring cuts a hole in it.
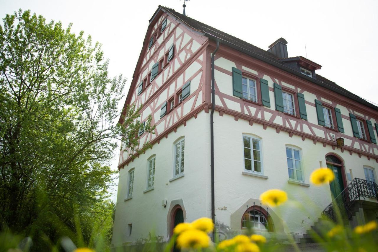
[{"label": "large half-timbered building with white plaster and green shutters", "polygon": [[[221,239],[248,225],[299,239],[333,217],[339,195],[351,225],[378,217],[378,107],[317,74],[321,65],[288,57],[286,45],[263,50],[159,6],[125,101],[143,104],[155,134],[141,129],[152,148],[135,159],[121,148],[113,246],[152,231],[167,241],[178,222],[204,216]],[[310,184],[319,167],[334,171],[330,186]],[[288,204],[260,204],[272,188]]]}]

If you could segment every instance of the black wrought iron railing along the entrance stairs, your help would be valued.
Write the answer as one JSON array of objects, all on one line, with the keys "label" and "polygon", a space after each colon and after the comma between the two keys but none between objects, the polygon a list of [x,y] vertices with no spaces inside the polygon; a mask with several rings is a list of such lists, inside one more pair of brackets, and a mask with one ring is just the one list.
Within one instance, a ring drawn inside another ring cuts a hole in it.
[{"label": "black wrought iron railing along the entrance stairs", "polygon": [[333,221],[336,221],[336,208],[338,208],[342,216],[352,219],[353,205],[358,200],[366,201],[366,198],[378,200],[378,185],[365,179],[355,178],[333,199],[332,203],[324,209],[322,216],[327,216]]}]

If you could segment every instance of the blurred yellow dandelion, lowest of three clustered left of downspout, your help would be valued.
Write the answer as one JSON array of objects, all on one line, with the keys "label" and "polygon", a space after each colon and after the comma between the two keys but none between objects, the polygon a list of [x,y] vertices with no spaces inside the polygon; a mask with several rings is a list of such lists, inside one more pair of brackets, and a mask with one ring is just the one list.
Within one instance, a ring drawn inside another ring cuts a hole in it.
[{"label": "blurred yellow dandelion, lowest of three clustered left of downspout", "polygon": [[200,249],[208,247],[210,244],[210,237],[197,229],[189,229],[182,233],[177,238],[177,246],[182,249]]}]

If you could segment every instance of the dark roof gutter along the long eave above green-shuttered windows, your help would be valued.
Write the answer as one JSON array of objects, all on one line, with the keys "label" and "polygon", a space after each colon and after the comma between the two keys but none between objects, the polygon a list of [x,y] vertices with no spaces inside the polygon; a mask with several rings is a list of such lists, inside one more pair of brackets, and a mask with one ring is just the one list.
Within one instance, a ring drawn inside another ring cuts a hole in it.
[{"label": "dark roof gutter along the long eave above green-shuttered windows", "polygon": [[[218,37],[216,37],[214,35],[211,35],[209,33],[204,33],[204,36],[208,37],[209,39],[215,40],[215,41],[217,41],[217,40],[220,39],[220,38],[218,38]],[[238,45],[232,44],[232,43],[230,43],[230,42],[228,42],[226,40],[223,40],[223,39],[221,39],[221,40],[222,40],[222,44],[227,45],[227,46],[229,46],[231,48],[234,48],[235,50],[241,51],[242,53],[245,53],[245,54],[247,54],[249,56],[252,56],[253,58],[259,59],[260,61],[263,61],[263,62],[268,63],[270,65],[273,65],[275,67],[278,67],[278,68],[280,68],[280,69],[282,69],[282,70],[284,70],[286,72],[289,72],[289,73],[291,73],[293,75],[296,75],[296,76],[298,76],[298,77],[300,77],[302,79],[306,79],[307,81],[313,82],[313,83],[315,83],[315,84],[317,84],[317,85],[319,85],[321,87],[324,87],[325,89],[329,89],[329,90],[332,90],[333,92],[336,92],[336,93],[339,93],[339,94],[341,94],[343,96],[346,96],[349,99],[351,99],[353,101],[356,101],[358,103],[364,104],[367,107],[370,107],[372,109],[378,110],[377,106],[374,106],[373,104],[371,104],[371,103],[369,103],[367,101],[364,101],[363,98],[361,98],[362,101],[361,100],[357,100],[355,97],[353,97],[351,95],[348,95],[347,93],[342,93],[338,89],[335,89],[334,87],[332,87],[330,85],[327,85],[324,82],[321,82],[321,81],[318,81],[318,80],[316,80],[314,78],[311,78],[311,77],[308,77],[306,75],[303,75],[302,73],[299,73],[299,72],[291,69],[290,67],[287,67],[285,65],[281,65],[281,64],[279,64],[279,63],[277,63],[275,61],[272,61],[271,59],[268,59],[268,58],[265,58],[265,57],[263,57],[263,56],[261,56],[259,54],[253,53],[253,52],[251,52],[249,50],[244,49],[243,47],[240,47]]]}]

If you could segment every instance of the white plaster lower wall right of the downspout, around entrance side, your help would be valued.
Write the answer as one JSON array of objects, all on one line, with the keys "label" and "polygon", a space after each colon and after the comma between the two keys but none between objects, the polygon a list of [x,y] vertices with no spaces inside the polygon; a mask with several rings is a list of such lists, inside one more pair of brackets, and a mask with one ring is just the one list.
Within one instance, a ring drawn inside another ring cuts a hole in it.
[{"label": "white plaster lower wall right of the downspout, around entrance side", "polygon": [[[248,199],[259,199],[264,191],[279,188],[287,191],[289,201],[282,207],[269,211],[274,211],[287,222],[288,230],[285,232],[305,233],[331,202],[328,185],[317,187],[309,182],[311,172],[320,167],[320,162],[323,166],[326,165],[327,153],[333,152],[341,156],[346,172],[349,173],[349,169],[352,169],[354,177],[365,179],[364,165],[375,168],[375,171],[378,167],[375,159],[367,160],[364,156],[359,158],[357,154],[350,156],[349,151],[343,153],[341,149],[334,151],[328,145],[324,148],[322,143],[314,145],[310,139],[302,141],[301,137],[296,135],[289,137],[287,132],[281,131],[277,134],[276,129],[268,127],[264,130],[263,126],[257,123],[250,126],[248,121],[242,119],[235,121],[230,115],[216,116],[214,126],[216,221],[229,227],[231,214],[243,206]],[[268,176],[268,179],[242,174],[243,133],[262,138],[263,175]],[[310,187],[288,184],[286,145],[294,145],[302,149],[304,183],[310,184]]]}]

